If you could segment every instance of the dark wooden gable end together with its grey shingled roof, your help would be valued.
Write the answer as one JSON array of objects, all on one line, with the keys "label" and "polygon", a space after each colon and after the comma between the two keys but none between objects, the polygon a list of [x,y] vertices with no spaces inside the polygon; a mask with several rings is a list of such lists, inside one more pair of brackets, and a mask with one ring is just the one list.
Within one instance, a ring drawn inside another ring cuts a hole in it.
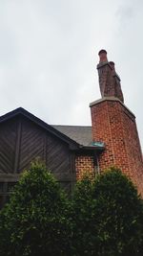
[{"label": "dark wooden gable end together with its grey shingled roof", "polygon": [[92,146],[91,128],[62,129],[46,124],[21,107],[0,117],[0,208],[20,173],[36,158],[71,192],[77,154],[93,156],[103,151],[101,146]]}]

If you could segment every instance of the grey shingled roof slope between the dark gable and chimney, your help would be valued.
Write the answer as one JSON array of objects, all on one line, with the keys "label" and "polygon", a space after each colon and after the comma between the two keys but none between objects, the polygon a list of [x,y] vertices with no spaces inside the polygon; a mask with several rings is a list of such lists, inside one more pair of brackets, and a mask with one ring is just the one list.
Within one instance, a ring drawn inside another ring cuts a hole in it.
[{"label": "grey shingled roof slope between the dark gable and chimney", "polygon": [[92,146],[92,127],[54,125],[52,128],[56,128],[80,145]]}]

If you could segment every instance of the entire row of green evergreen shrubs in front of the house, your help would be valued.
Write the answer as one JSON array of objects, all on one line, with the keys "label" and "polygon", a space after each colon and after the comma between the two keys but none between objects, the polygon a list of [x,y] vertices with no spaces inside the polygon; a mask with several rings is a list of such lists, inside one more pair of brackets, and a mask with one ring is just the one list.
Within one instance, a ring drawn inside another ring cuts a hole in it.
[{"label": "entire row of green evergreen shrubs in front of the house", "polygon": [[68,199],[35,163],[0,213],[0,255],[141,256],[142,230],[142,200],[119,170],[85,175]]}]

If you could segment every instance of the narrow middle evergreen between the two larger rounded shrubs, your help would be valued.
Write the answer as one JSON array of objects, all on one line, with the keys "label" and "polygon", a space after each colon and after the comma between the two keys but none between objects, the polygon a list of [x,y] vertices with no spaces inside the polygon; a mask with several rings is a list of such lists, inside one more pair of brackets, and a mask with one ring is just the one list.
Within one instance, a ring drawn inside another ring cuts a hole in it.
[{"label": "narrow middle evergreen between the two larger rounded shrubs", "polygon": [[95,200],[88,175],[76,183],[72,197],[71,255],[94,255],[96,247]]}]

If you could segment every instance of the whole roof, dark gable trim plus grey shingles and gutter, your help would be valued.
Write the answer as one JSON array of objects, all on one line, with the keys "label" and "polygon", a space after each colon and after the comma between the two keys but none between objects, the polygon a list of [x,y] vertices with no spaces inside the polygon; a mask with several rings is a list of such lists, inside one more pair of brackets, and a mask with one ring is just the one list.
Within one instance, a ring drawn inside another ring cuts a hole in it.
[{"label": "whole roof, dark gable trim plus grey shingles and gutter", "polygon": [[104,145],[92,142],[92,127],[49,125],[23,107],[18,107],[7,114],[0,116],[0,124],[17,115],[25,116],[39,127],[50,131],[51,134],[67,142],[72,150],[104,150]]}]

